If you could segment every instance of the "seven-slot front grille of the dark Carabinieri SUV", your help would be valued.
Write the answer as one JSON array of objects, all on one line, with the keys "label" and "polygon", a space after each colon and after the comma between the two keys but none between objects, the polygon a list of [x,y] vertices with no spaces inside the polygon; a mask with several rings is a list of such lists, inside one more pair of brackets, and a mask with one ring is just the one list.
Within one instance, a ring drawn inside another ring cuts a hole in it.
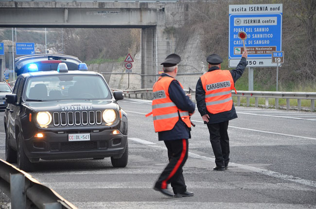
[{"label": "seven-slot front grille of the dark Carabinieri SUV", "polygon": [[87,126],[102,124],[101,111],[76,111],[53,113],[54,126]]}]

